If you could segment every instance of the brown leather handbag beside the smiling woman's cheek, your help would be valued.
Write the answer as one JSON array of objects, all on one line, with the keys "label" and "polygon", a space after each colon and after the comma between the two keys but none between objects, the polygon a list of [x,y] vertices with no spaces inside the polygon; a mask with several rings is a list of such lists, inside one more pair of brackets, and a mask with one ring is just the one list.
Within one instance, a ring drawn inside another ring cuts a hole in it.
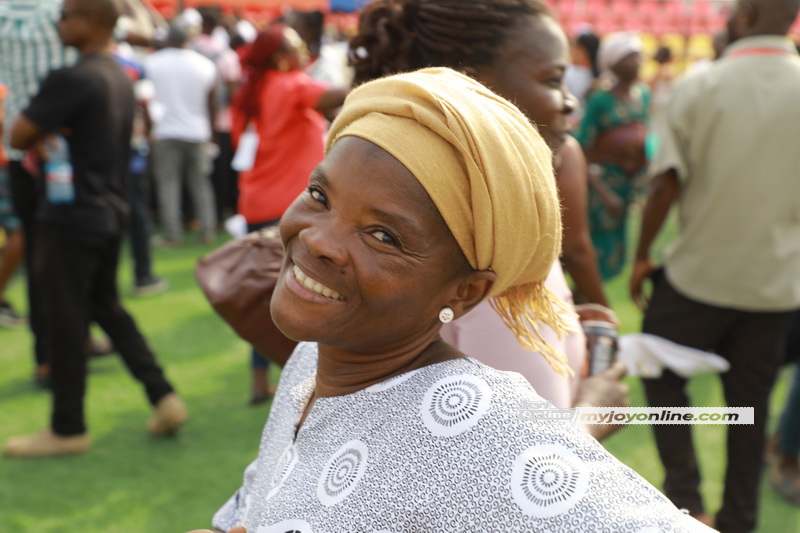
[{"label": "brown leather handbag beside the smiling woman's cheek", "polygon": [[280,366],[297,345],[275,326],[269,311],[282,262],[278,228],[269,227],[204,255],[194,270],[214,311],[242,339]]}]

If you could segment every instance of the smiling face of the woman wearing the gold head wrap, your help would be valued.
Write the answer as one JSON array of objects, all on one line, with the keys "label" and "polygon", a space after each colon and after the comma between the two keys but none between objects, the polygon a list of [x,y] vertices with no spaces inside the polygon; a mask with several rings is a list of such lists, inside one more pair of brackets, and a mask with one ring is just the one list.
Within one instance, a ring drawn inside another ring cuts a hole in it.
[{"label": "smiling face of the woman wearing the gold head wrap", "polygon": [[438,333],[466,265],[423,187],[394,157],[345,137],[281,219],[272,317],[290,338],[386,353]]}]

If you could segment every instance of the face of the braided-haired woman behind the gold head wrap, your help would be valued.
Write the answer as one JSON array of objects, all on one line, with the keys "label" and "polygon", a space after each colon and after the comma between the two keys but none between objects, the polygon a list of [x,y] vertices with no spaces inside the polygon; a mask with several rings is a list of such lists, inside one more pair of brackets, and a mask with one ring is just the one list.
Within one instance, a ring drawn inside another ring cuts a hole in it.
[{"label": "face of the braided-haired woman behind the gold head wrap", "polygon": [[558,23],[528,16],[509,32],[495,64],[477,69],[476,78],[516,104],[557,150],[569,133],[567,117],[576,105],[563,83],[569,62],[569,42]]}]

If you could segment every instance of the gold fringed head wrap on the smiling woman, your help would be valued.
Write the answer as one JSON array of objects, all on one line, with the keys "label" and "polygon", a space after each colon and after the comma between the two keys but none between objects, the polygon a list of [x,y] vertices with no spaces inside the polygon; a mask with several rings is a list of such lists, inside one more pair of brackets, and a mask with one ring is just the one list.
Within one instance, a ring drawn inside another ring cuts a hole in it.
[{"label": "gold fringed head wrap on the smiling woman", "polygon": [[492,270],[491,304],[520,344],[570,372],[540,333],[559,335],[565,304],[544,280],[561,250],[552,153],[513,104],[473,79],[428,68],[365,83],[331,125],[400,161],[439,209],[469,264]]}]

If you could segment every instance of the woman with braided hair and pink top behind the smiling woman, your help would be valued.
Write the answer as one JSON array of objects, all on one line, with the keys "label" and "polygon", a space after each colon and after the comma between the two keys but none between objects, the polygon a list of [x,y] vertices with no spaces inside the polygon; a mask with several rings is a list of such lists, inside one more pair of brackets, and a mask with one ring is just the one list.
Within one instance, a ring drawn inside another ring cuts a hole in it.
[{"label": "woman with braided hair and pink top behind the smiling woman", "polygon": [[[427,6],[424,14],[420,8],[423,4]],[[561,259],[576,286],[597,304],[593,310],[582,312],[581,318],[616,321],[613,312],[603,311],[608,302],[586,226],[586,162],[580,146],[569,135],[569,114],[575,98],[563,84],[569,63],[564,31],[539,0],[474,0],[454,6],[447,0],[371,2],[360,14],[358,35],[350,41],[355,83],[402,70],[449,66],[514,102],[557,153],[565,228]],[[572,301],[558,262],[545,285],[561,299]],[[540,354],[520,346],[488,302],[446,324],[440,334],[487,365],[519,372],[543,398],[558,407],[624,405],[627,386],[620,382],[624,367],[581,379],[586,346],[577,317],[573,327],[576,332],[564,339],[543,327],[550,345],[566,354],[573,376],[557,373]],[[586,429],[602,438],[613,428],[594,425]]]}]

